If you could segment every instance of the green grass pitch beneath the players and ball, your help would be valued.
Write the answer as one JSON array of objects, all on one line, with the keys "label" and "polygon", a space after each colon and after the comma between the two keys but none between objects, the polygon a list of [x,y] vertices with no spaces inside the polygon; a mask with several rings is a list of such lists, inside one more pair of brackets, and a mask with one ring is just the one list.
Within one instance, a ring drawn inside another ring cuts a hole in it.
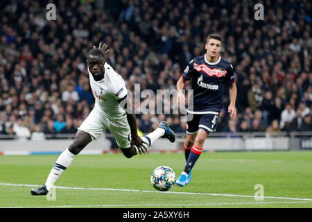
[{"label": "green grass pitch beneath the players and ball", "polygon": [[[152,187],[150,173],[166,165],[179,176],[184,153],[78,155],[56,182],[55,200],[31,196],[57,157],[0,156],[0,207],[312,207],[311,151],[202,153],[191,183],[168,192]],[[257,184],[264,200],[254,199]]]}]

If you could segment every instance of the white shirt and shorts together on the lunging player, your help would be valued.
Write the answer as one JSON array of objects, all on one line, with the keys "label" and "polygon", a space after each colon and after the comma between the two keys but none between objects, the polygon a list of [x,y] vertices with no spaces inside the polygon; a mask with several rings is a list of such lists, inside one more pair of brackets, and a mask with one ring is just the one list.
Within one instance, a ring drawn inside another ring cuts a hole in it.
[{"label": "white shirt and shorts together on the lunging player", "polygon": [[119,101],[127,96],[128,89],[125,87],[123,78],[106,62],[104,69],[104,78],[96,81],[88,68],[95,105],[78,130],[83,130],[89,133],[92,139],[96,139],[106,129],[109,129],[118,146],[128,148],[130,147],[130,128],[126,112],[119,105]]}]

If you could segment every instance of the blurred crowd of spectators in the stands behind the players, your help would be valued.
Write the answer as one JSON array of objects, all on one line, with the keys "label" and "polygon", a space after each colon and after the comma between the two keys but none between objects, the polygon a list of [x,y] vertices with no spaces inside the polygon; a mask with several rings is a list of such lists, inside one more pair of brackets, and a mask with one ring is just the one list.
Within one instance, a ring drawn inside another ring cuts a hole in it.
[{"label": "blurred crowd of spectators in the stands behind the players", "polygon": [[[51,2],[55,21],[46,20]],[[225,96],[218,132],[312,131],[311,2],[263,2],[264,21],[254,19],[256,3],[2,1],[0,134],[76,133],[94,106],[85,60],[99,42],[129,90],[140,84],[156,92],[175,89],[210,33],[223,36],[220,56],[232,63],[238,87],[238,116],[229,120]],[[187,127],[179,114],[137,114],[139,133],[162,120],[177,133]]]}]

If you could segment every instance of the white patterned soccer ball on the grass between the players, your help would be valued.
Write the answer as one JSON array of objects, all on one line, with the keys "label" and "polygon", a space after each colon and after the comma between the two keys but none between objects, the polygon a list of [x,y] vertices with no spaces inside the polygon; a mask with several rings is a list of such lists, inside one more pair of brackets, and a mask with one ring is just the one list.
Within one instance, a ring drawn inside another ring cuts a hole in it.
[{"label": "white patterned soccer ball on the grass between the players", "polygon": [[170,167],[157,167],[150,176],[150,182],[159,191],[168,191],[175,185],[175,171]]}]

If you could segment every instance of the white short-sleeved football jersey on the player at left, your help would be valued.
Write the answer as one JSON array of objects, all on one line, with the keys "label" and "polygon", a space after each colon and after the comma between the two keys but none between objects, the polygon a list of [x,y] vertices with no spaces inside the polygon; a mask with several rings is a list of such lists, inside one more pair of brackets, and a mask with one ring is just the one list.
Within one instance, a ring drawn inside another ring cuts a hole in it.
[{"label": "white short-sleeved football jersey on the player at left", "polygon": [[88,67],[90,85],[95,98],[94,109],[102,112],[106,117],[119,119],[124,116],[125,110],[120,107],[117,100],[125,97],[128,89],[123,78],[107,62],[104,69],[104,78],[96,81]]}]

